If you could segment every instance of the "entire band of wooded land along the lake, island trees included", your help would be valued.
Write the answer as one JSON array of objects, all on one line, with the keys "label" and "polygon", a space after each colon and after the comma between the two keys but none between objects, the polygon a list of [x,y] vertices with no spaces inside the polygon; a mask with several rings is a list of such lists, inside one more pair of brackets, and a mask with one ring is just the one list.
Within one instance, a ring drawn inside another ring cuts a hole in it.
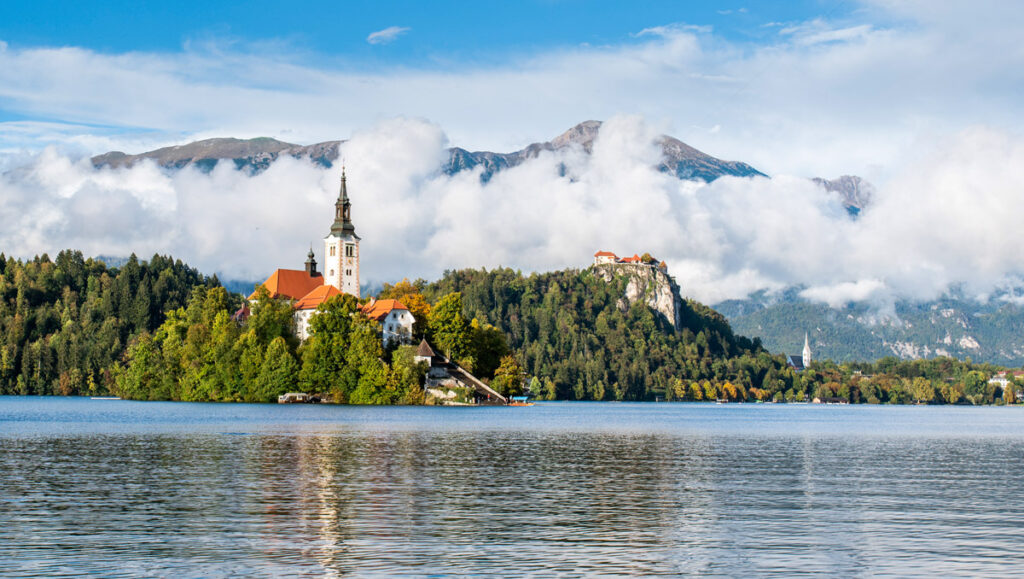
[{"label": "entire band of wooded land along the lake, island trees included", "polygon": [[[998,367],[950,358],[824,362],[797,373],[707,306],[679,299],[673,312],[652,308],[650,296],[668,279],[636,272],[463,270],[434,283],[385,285],[379,297],[406,303],[418,320],[416,339],[506,395],[526,387],[546,400],[1017,401],[1021,384],[1013,381],[1024,373],[1005,373],[1013,385],[1000,385],[989,381]],[[300,389],[351,404],[428,402],[414,348],[385,349],[354,297],[321,305],[301,343],[290,302],[263,292],[247,321],[232,320],[241,303],[216,278],[160,255],[117,268],[75,251],[55,260],[2,258],[0,394],[270,402]]]}]

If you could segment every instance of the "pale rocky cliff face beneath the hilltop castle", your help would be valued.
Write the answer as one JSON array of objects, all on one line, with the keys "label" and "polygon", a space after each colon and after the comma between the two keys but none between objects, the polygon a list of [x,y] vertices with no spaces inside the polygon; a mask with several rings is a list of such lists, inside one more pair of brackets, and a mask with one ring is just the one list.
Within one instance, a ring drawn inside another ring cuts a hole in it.
[{"label": "pale rocky cliff face beneath the hilltop castle", "polygon": [[683,298],[679,285],[671,276],[657,267],[634,263],[607,263],[593,266],[594,273],[605,282],[626,279],[626,291],[620,307],[628,309],[641,302],[660,314],[677,331],[683,327]]}]

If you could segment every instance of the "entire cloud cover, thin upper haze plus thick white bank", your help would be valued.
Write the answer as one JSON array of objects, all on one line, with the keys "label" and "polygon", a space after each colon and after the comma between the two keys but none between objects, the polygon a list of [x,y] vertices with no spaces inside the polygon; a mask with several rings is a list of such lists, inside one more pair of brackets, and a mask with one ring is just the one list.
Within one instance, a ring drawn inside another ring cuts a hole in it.
[{"label": "entire cloud cover, thin upper haze plus thick white bank", "polygon": [[[351,135],[371,280],[584,266],[603,248],[667,259],[712,303],[794,284],[833,304],[950,286],[985,297],[1024,277],[1022,26],[1013,3],[872,0],[761,45],[669,25],[498,65],[373,70],[236,46],[6,47],[0,102],[28,120],[0,123],[0,249],[170,252],[241,279],[299,266],[329,225],[337,171],[78,159],[199,136]],[[592,156],[546,152],[485,184],[438,171],[449,144],[511,151],[590,118],[609,120]],[[653,171],[662,132],[773,178]],[[843,173],[878,189],[857,220],[804,178]]]}]

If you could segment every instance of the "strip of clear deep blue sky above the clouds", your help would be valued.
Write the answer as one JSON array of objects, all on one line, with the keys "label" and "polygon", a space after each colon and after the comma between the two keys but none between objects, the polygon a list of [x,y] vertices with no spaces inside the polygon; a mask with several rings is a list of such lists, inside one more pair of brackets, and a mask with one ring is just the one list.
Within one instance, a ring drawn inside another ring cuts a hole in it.
[{"label": "strip of clear deep blue sky above the clouds", "polygon": [[[362,66],[443,65],[502,58],[584,43],[630,41],[638,31],[671,23],[713,27],[734,41],[762,42],[773,23],[841,18],[842,1],[729,2],[528,0],[522,2],[68,2],[0,6],[0,39],[14,46],[81,46],[101,52],[180,50],[189,42],[238,42]],[[389,43],[372,33],[407,28]]]}]

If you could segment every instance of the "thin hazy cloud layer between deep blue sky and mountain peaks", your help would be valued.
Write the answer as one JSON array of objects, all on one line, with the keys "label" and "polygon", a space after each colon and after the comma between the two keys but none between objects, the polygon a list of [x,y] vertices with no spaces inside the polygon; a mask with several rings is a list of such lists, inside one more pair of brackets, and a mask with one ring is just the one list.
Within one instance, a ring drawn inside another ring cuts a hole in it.
[{"label": "thin hazy cloud layer between deep blue sky and mountain peaks", "polygon": [[456,144],[492,151],[587,118],[642,114],[670,129],[719,125],[676,135],[772,174],[880,180],[919,140],[976,125],[1024,129],[1024,52],[1012,41],[1024,5],[932,5],[865,3],[841,22],[788,25],[767,44],[668,25],[497,64],[369,69],[209,44],[120,54],[9,47],[0,52],[0,102],[19,118],[86,127],[81,134],[162,132],[166,144],[182,133],[308,143],[406,115],[439,123]]}]

